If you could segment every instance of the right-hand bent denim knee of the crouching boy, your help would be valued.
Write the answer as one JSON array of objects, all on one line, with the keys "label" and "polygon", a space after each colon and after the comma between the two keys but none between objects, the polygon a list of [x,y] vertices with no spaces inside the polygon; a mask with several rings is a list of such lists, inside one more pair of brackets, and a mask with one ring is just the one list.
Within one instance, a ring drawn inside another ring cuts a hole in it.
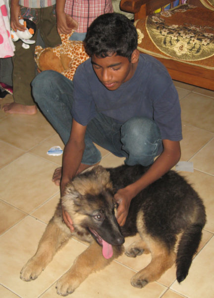
[{"label": "right-hand bent denim knee of the crouching boy", "polygon": [[159,127],[148,118],[131,118],[121,127],[121,142],[128,153],[127,164],[149,165],[161,146]]}]

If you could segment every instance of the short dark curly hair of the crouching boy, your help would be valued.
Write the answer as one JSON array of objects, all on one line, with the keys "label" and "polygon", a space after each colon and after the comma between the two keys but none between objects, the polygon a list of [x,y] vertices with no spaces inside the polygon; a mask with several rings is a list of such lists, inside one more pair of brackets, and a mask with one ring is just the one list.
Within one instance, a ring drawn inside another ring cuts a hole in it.
[{"label": "short dark curly hair of the crouching boy", "polygon": [[131,61],[137,39],[134,24],[125,15],[113,12],[102,14],[92,22],[84,45],[89,56],[105,58],[116,53]]}]

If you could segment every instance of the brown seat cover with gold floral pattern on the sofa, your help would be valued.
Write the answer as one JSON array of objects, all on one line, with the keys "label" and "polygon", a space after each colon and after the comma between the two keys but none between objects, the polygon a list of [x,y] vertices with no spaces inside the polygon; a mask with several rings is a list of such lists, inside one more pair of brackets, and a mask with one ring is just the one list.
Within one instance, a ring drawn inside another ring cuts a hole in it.
[{"label": "brown seat cover with gold floral pattern on the sofa", "polygon": [[214,11],[187,4],[149,15],[135,23],[139,49],[214,69],[212,19]]}]

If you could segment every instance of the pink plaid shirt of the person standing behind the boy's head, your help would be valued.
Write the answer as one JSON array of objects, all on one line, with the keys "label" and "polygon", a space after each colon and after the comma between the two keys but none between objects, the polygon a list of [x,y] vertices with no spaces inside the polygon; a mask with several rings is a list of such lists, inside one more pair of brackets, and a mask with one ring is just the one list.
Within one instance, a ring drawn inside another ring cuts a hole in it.
[{"label": "pink plaid shirt of the person standing behind the boy's head", "polygon": [[75,19],[78,33],[85,33],[99,15],[113,12],[111,0],[66,0],[64,12]]}]

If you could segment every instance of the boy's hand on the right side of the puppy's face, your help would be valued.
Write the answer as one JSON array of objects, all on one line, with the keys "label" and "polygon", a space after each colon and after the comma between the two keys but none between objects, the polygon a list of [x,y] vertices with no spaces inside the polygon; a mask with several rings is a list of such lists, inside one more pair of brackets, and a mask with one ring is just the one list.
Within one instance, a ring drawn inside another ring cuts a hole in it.
[{"label": "boy's hand on the right side of the puppy's face", "polygon": [[114,195],[114,199],[119,204],[116,216],[117,222],[120,226],[122,226],[126,222],[132,196],[129,194],[127,189],[121,188]]}]

